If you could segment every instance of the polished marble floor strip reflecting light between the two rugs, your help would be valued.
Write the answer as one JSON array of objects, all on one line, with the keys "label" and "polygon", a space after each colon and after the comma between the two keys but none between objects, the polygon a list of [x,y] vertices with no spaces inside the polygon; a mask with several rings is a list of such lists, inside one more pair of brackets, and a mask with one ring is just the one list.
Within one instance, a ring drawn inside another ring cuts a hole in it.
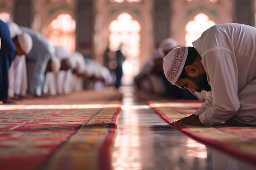
[{"label": "polished marble floor strip reflecting light between the two rugs", "polygon": [[256,170],[168,126],[135,96],[132,87],[119,91],[123,112],[113,144],[112,170]]}]

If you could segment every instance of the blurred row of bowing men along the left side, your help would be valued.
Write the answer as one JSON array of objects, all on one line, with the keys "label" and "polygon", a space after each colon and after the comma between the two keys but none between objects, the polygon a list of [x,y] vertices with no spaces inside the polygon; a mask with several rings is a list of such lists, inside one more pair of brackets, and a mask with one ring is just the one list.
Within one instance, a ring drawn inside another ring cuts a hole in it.
[{"label": "blurred row of bowing men along the left side", "polygon": [[55,46],[38,31],[0,20],[0,101],[101,89],[113,83],[108,69]]}]

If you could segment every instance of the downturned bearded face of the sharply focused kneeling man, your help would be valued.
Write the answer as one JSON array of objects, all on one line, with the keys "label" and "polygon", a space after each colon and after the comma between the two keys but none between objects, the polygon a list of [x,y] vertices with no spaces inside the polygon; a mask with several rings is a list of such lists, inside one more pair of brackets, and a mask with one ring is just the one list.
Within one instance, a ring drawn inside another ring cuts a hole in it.
[{"label": "downturned bearded face of the sharply focused kneeling man", "polygon": [[187,88],[191,93],[195,93],[195,91],[200,93],[203,90],[211,91],[206,73],[196,77],[188,76],[185,79],[178,79],[176,85],[180,88]]}]

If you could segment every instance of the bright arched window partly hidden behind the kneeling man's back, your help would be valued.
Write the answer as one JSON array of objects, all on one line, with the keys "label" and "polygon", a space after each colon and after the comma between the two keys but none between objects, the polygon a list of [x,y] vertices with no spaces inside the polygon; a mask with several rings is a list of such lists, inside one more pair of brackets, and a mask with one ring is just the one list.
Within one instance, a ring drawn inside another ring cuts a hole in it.
[{"label": "bright arched window partly hidden behind the kneeling man's back", "polygon": [[198,13],[193,20],[189,21],[185,26],[185,41],[187,46],[192,46],[192,42],[197,40],[201,34],[215,25],[216,23],[209,19],[204,13]]}]

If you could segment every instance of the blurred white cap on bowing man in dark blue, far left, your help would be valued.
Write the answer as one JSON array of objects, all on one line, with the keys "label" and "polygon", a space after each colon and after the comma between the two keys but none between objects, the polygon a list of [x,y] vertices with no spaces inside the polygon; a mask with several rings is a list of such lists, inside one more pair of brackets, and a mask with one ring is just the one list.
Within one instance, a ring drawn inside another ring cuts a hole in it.
[{"label": "blurred white cap on bowing man in dark blue, far left", "polygon": [[22,33],[17,36],[18,44],[25,54],[28,54],[32,49],[32,38],[28,33]]}]

